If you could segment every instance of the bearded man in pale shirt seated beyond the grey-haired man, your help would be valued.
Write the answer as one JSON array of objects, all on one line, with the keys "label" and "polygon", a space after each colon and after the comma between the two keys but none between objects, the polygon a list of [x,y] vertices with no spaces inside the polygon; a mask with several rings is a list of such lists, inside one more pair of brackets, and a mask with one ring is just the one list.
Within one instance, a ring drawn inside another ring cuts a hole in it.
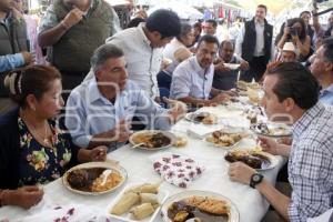
[{"label": "bearded man in pale shirt seated beyond the grey-haired man", "polygon": [[[196,56],[180,63],[173,71],[170,97],[194,107],[213,105],[225,101],[221,90],[212,88],[213,59],[219,49],[215,37],[203,36],[198,43]],[[213,99],[210,99],[210,97]]]}]

